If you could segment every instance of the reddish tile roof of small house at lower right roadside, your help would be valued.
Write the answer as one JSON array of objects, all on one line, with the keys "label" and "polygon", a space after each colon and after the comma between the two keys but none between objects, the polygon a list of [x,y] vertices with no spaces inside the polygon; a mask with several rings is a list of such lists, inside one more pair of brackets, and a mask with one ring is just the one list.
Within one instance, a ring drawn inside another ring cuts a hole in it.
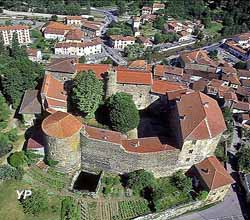
[{"label": "reddish tile roof of small house at lower right roadside", "polygon": [[215,156],[208,157],[194,167],[209,190],[235,182]]}]

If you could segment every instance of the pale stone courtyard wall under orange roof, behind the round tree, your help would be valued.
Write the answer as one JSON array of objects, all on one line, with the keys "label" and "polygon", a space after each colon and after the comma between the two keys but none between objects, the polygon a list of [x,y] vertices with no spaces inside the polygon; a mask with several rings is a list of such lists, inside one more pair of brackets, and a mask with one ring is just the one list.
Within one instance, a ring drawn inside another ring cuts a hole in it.
[{"label": "pale stone courtyard wall under orange roof, behind the round tree", "polygon": [[150,90],[149,85],[116,84],[117,92],[125,92],[133,96],[138,109],[145,109],[151,104]]}]

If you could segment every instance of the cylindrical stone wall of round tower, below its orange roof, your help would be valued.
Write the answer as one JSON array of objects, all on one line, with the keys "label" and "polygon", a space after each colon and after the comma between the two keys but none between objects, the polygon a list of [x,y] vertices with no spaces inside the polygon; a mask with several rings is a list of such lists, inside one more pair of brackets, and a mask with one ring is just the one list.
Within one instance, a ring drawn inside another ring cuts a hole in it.
[{"label": "cylindrical stone wall of round tower, below its orange roof", "polygon": [[72,172],[80,167],[80,131],[68,138],[55,138],[45,134],[45,152],[49,159],[58,161],[57,170]]}]

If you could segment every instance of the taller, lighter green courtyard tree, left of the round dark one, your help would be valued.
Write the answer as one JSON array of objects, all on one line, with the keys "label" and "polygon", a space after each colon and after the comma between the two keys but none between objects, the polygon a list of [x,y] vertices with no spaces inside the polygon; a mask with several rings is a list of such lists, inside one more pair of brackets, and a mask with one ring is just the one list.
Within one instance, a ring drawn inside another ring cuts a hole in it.
[{"label": "taller, lighter green courtyard tree, left of the round dark one", "polygon": [[72,101],[79,111],[93,118],[103,98],[103,82],[96,78],[93,71],[78,73],[74,79]]}]

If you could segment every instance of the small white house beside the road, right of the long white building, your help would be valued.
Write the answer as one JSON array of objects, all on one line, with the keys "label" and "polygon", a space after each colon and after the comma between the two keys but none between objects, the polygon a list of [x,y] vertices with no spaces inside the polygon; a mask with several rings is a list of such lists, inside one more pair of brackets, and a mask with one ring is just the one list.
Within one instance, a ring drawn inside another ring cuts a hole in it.
[{"label": "small white house beside the road, right of the long white building", "polygon": [[124,50],[126,46],[135,44],[135,38],[131,36],[111,35],[110,41],[111,45],[119,50]]}]

